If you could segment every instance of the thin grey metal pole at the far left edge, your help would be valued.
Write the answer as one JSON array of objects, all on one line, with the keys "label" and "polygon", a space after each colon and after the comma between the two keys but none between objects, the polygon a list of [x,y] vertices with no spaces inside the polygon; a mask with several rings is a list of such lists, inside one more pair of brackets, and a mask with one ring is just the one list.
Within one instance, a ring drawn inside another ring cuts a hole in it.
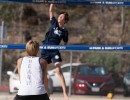
[{"label": "thin grey metal pole at the far left edge", "polygon": [[[4,21],[2,21],[1,25],[1,32],[0,32],[0,43],[3,43],[3,33],[4,33]],[[2,60],[3,60],[3,49],[0,49],[0,86],[1,86],[1,79],[2,79]]]}]

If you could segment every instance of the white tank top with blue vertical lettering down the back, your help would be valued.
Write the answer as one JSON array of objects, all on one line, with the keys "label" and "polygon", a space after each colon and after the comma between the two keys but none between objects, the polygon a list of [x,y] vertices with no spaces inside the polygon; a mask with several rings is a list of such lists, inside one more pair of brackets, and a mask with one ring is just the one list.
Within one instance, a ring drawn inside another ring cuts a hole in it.
[{"label": "white tank top with blue vertical lettering down the back", "polygon": [[39,57],[23,57],[18,95],[45,94],[46,90],[42,79],[42,67]]}]

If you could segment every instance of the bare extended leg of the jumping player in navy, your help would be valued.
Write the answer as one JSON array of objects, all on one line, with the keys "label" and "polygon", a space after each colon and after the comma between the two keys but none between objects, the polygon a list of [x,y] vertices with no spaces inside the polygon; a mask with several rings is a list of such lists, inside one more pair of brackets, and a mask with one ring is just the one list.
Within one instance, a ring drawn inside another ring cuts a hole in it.
[{"label": "bare extended leg of the jumping player in navy", "polygon": [[60,79],[61,86],[63,89],[64,100],[69,100],[68,95],[67,95],[67,91],[66,91],[65,79],[64,79],[64,76],[63,76],[61,68],[60,68],[60,63],[55,63],[55,66],[56,66],[56,73]]}]

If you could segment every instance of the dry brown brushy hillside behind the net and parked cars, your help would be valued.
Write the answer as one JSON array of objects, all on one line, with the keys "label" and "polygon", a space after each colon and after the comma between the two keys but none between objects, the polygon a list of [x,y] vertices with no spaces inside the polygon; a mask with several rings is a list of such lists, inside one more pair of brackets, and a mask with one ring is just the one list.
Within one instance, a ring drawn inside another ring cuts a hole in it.
[{"label": "dry brown brushy hillside behind the net and parked cars", "polygon": [[[7,26],[3,43],[26,43],[28,38],[41,43],[50,25],[48,9],[48,4],[0,3],[0,22],[4,21]],[[67,11],[70,16],[66,25],[69,31],[68,44],[130,44],[129,7],[56,5],[55,15],[58,16],[61,11]],[[3,73],[7,69],[12,70],[16,60],[26,55],[22,50],[3,52]],[[69,55],[69,52],[62,51],[63,63],[69,62]],[[101,64],[117,73],[125,73],[130,65],[129,60],[128,53],[73,52],[73,62]]]}]

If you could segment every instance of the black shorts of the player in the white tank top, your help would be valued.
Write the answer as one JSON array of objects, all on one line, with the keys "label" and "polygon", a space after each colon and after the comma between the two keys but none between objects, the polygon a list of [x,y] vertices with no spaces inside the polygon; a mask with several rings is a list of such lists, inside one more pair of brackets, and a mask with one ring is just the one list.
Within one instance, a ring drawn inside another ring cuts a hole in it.
[{"label": "black shorts of the player in the white tank top", "polygon": [[27,96],[20,96],[16,95],[14,100],[50,100],[48,94],[41,94],[41,95],[27,95]]}]

